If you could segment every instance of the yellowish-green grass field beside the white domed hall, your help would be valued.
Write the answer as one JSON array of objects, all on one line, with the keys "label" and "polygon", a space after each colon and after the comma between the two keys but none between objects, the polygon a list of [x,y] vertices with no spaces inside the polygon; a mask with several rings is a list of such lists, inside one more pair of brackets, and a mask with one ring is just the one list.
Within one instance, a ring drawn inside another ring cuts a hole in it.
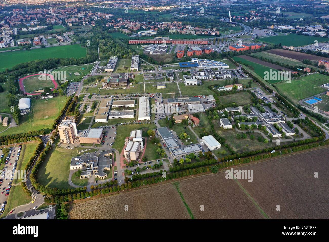
[{"label": "yellowish-green grass field beside the white domed hall", "polygon": [[44,130],[45,133],[50,131],[50,128],[57,119],[60,111],[65,104],[66,97],[58,96],[45,100],[31,100],[32,114],[21,116],[19,126],[11,127],[1,135],[26,133],[30,130]]}]

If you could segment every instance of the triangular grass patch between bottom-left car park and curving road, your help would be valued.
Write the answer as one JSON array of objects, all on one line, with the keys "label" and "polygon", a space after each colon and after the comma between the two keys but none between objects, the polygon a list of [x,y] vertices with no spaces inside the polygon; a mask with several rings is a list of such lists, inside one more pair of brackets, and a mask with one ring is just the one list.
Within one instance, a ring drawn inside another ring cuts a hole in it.
[{"label": "triangular grass patch between bottom-left car park and curving road", "polygon": [[32,201],[32,198],[28,196],[21,185],[13,186],[10,189],[10,195],[8,196],[8,202],[5,207],[4,213],[0,216],[0,218],[4,218],[14,207],[19,205],[26,204]]}]

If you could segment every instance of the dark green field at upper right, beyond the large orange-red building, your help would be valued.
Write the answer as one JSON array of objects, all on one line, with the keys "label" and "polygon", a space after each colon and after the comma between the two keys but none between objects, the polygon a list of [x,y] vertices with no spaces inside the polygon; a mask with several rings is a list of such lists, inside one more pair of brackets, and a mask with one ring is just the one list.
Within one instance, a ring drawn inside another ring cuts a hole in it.
[{"label": "dark green field at upper right, beyond the large orange-red building", "polygon": [[282,44],[288,46],[304,46],[308,44],[313,44],[314,40],[318,42],[325,42],[328,39],[314,37],[314,36],[305,36],[305,35],[296,35],[296,34],[287,34],[287,35],[275,35],[265,38],[259,38],[258,40],[263,42],[270,42],[274,44]]}]

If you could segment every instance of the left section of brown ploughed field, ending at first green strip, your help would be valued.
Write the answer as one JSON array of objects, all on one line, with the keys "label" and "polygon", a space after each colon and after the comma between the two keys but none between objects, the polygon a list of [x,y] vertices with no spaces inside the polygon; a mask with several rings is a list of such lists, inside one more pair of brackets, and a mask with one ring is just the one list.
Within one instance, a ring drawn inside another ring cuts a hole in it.
[{"label": "left section of brown ploughed field, ending at first green strip", "polygon": [[[124,211],[126,204],[128,211]],[[73,204],[69,211],[69,219],[131,218],[190,219],[190,216],[172,183]]]}]

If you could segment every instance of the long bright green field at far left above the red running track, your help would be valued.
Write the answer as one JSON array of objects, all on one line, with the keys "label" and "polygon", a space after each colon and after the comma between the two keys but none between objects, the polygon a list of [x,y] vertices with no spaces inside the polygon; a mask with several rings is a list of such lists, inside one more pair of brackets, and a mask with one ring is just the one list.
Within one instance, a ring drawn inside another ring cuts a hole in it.
[{"label": "long bright green field at far left above the red running track", "polygon": [[86,48],[78,44],[67,44],[46,48],[0,52],[0,71],[17,64],[48,58],[80,58],[86,56]]}]

